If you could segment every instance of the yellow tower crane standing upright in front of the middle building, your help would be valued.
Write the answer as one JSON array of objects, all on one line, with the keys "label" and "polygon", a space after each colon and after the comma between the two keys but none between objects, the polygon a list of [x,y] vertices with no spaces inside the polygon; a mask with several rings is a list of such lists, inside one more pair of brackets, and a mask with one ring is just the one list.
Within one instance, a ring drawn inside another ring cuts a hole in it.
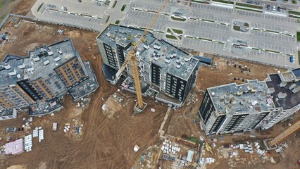
[{"label": "yellow tower crane standing upright in front of the middle building", "polygon": [[139,106],[139,108],[143,107],[143,99],[142,99],[141,82],[139,79],[139,68],[137,67],[137,58],[135,56],[135,50],[137,49],[137,46],[139,46],[139,44],[141,44],[144,41],[144,39],[146,38],[146,34],[149,32],[149,29],[151,29],[151,27],[156,22],[161,11],[163,11],[163,8],[165,8],[165,5],[168,4],[168,1],[169,0],[163,1],[163,4],[159,7],[157,13],[154,15],[154,18],[151,19],[150,23],[146,27],[146,30],[144,30],[142,36],[137,40],[135,45],[132,46],[132,49],[130,49],[130,51],[128,52],[128,55],[125,58],[123,65],[120,67],[118,72],[115,74],[115,80],[119,80],[120,76],[122,75],[123,71],[125,70],[127,64],[130,62],[130,66],[132,68],[133,81],[135,84],[135,91],[137,93],[137,106]]}]

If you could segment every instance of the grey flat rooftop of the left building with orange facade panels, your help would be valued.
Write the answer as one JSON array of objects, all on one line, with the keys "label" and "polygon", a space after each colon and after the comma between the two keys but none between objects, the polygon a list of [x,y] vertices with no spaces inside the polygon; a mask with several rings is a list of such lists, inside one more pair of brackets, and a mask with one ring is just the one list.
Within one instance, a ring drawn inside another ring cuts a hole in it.
[{"label": "grey flat rooftop of the left building with orange facade panels", "polygon": [[[54,68],[74,57],[79,56],[76,54],[71,39],[38,47],[35,51],[30,51],[28,57],[8,55],[0,66],[0,85],[15,84],[17,81],[26,79],[36,80],[39,77],[44,80],[58,78]],[[57,91],[63,90],[63,83],[54,85],[58,87]]]}]

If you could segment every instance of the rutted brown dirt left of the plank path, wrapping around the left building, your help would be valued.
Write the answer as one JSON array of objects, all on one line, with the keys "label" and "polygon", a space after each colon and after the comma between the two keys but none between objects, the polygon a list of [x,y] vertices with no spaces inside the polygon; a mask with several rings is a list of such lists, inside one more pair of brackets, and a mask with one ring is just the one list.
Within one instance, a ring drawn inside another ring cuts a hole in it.
[{"label": "rutted brown dirt left of the plank path, wrapping around the left building", "polygon": [[[27,169],[130,168],[141,152],[133,151],[135,144],[143,150],[157,142],[158,129],[167,108],[160,103],[155,103],[153,99],[144,99],[148,106],[143,113],[132,117],[135,95],[121,90],[120,94],[123,94],[127,106],[114,113],[113,118],[108,118],[102,113],[101,106],[118,87],[109,84],[102,73],[102,61],[96,46],[96,33],[25,22],[22,22],[19,27],[13,25],[15,23],[11,22],[5,27],[11,33],[13,41],[1,47],[1,59],[6,54],[27,56],[27,52],[35,49],[35,46],[51,44],[70,37],[83,60],[89,59],[92,62],[99,81],[99,89],[92,95],[91,103],[81,114],[74,111],[76,103],[70,99],[70,96],[65,96],[62,111],[54,116],[34,118],[32,125],[44,128],[44,141],[41,143],[33,141],[32,151],[29,153],[18,156],[1,155],[0,168],[8,168],[11,165],[24,165],[23,168]],[[64,30],[63,35],[57,33],[58,29]],[[156,112],[151,113],[151,108],[155,108]],[[77,116],[74,117],[73,113]],[[22,125],[22,118],[28,118],[27,116],[27,113],[21,113],[17,119],[1,121],[0,134],[4,134],[8,126]],[[82,123],[85,124],[80,140],[72,139],[63,132],[65,123],[69,123],[72,118],[81,118]],[[58,123],[57,132],[51,130],[54,121]]]}]

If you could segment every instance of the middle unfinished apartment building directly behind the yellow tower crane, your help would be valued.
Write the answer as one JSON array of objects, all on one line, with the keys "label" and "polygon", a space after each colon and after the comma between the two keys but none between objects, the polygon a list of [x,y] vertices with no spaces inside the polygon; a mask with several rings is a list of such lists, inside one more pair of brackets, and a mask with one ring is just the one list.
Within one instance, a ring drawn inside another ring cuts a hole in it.
[{"label": "middle unfinished apartment building directly behind the yellow tower crane", "polygon": [[[104,75],[112,84],[118,82],[115,73],[143,32],[131,27],[108,25],[96,38],[104,61]],[[150,32],[142,40],[136,51],[142,86],[155,91],[157,100],[182,106],[196,79],[198,61],[172,44],[156,39]],[[127,65],[126,73],[124,75],[132,77],[130,65]]]}]

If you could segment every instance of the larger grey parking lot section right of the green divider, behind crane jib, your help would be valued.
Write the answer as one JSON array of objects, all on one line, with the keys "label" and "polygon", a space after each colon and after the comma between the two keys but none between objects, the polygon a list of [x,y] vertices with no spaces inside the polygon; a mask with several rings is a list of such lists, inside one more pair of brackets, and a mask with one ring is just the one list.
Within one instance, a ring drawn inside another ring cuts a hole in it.
[{"label": "larger grey parking lot section right of the green divider, behind crane jib", "polygon": [[[149,11],[157,11],[160,4],[161,1],[155,0],[133,1],[131,9],[121,24],[133,27],[146,27],[149,20],[155,15],[155,12]],[[143,10],[137,11],[135,10],[136,8]],[[174,8],[189,9],[188,13],[182,14],[182,17],[187,18],[185,22],[170,18],[171,15],[174,15]],[[181,42],[173,42],[168,39],[168,41],[177,46],[212,54],[244,57],[278,65],[292,67],[299,65],[296,37],[291,36],[296,34],[299,26],[296,20],[292,18],[198,3],[192,3],[192,6],[189,8],[174,4],[174,2],[173,6],[167,5],[163,13],[158,17],[152,28],[163,32],[165,32],[166,27],[184,30]],[[165,15],[165,13],[168,13],[168,15]],[[239,32],[233,30],[232,20],[249,23],[249,31]],[[252,28],[256,28],[256,30],[252,30]],[[281,35],[280,32],[284,34]],[[162,33],[155,33],[155,35],[158,38],[165,39]],[[246,48],[235,48],[233,46],[234,39],[246,40],[249,46]],[[296,56],[294,63],[289,63],[289,55]]]}]

